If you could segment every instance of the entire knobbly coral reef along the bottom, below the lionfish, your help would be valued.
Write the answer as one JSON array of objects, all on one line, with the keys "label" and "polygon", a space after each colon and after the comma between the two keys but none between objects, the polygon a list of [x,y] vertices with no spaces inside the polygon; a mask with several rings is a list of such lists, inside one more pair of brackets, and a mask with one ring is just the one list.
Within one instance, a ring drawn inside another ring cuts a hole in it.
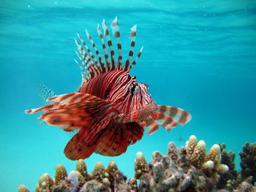
[{"label": "entire knobbly coral reef along the bottom, below the lionfish", "polygon": [[[167,146],[167,154],[155,151],[148,163],[143,153],[135,159],[135,176],[127,177],[118,169],[115,161],[105,168],[98,162],[89,174],[83,160],[77,162],[76,170],[67,174],[62,164],[56,166],[51,178],[47,173],[39,177],[36,192],[204,192],[204,191],[256,191],[255,144],[243,148],[241,173],[235,170],[235,154],[225,151],[225,145],[215,144],[206,153],[206,143],[189,137],[180,149],[174,142]],[[244,168],[243,168],[244,167]],[[250,170],[250,171],[249,171]],[[29,192],[20,185],[18,192]]]}]

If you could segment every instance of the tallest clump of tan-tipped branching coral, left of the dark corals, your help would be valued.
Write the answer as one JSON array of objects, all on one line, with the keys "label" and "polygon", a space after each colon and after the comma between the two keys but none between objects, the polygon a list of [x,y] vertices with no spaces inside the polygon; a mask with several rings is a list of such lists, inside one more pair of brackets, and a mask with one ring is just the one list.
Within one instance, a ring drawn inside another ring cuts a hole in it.
[{"label": "tallest clump of tan-tipped branching coral, left of the dark corals", "polygon": [[139,191],[211,191],[217,183],[219,149],[214,145],[206,155],[206,143],[197,142],[195,136],[190,137],[187,147],[189,150],[178,150],[170,142],[167,155],[154,152],[149,171],[140,175]]}]

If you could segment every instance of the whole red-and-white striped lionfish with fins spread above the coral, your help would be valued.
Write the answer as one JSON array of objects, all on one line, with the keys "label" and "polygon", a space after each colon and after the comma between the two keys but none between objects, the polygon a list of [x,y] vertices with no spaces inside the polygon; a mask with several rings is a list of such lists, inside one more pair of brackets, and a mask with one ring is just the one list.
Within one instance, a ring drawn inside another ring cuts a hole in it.
[{"label": "whole red-and-white striped lionfish with fins spread above the coral", "polygon": [[75,62],[80,66],[82,74],[82,83],[77,93],[53,96],[47,99],[50,104],[26,110],[28,114],[45,112],[39,119],[48,125],[59,126],[64,131],[79,130],[64,149],[64,154],[71,160],[89,158],[92,153],[121,155],[129,145],[143,137],[145,126],[147,134],[153,134],[159,125],[170,131],[178,123],[183,126],[191,120],[191,115],[184,110],[157,105],[148,94],[148,85],[138,83],[136,77],[129,74],[143,50],[142,47],[132,61],[137,26],[133,26],[129,33],[131,47],[125,63],[122,61],[117,18],[111,23],[113,37],[117,41],[117,59],[105,20],[102,28],[104,34],[98,24],[97,32],[102,42],[105,62],[87,30],[86,36],[97,58],[79,34],[78,39],[75,39],[78,46],[76,53],[80,60]]}]

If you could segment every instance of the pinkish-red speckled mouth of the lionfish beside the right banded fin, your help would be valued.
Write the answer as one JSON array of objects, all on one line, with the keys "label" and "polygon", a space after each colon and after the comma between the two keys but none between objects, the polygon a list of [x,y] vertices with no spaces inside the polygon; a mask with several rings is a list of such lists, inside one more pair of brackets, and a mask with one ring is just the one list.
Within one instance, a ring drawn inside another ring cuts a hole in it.
[{"label": "pinkish-red speckled mouth of the lionfish beside the right banded fin", "polygon": [[134,122],[140,122],[147,118],[153,118],[154,112],[157,111],[157,104],[148,104],[140,107],[139,110],[132,110],[131,120]]}]

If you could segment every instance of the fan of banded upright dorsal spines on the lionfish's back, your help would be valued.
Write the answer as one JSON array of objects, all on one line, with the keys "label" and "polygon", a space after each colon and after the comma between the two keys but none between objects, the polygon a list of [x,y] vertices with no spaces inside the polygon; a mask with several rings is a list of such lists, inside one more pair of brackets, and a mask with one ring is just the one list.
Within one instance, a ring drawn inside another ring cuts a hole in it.
[{"label": "fan of banded upright dorsal spines on the lionfish's back", "polygon": [[[129,32],[129,39],[131,40],[131,47],[129,50],[129,55],[127,58],[127,61],[125,62],[125,64],[123,64],[122,61],[122,51],[121,51],[121,38],[120,38],[120,31],[119,31],[119,26],[118,26],[118,19],[117,17],[113,20],[113,22],[111,23],[111,29],[112,29],[112,33],[113,33],[113,37],[116,38],[117,41],[117,49],[118,49],[118,59],[116,61],[116,57],[115,57],[115,53],[114,53],[114,49],[113,49],[113,43],[110,39],[110,34],[108,31],[108,26],[105,23],[105,20],[102,21],[102,28],[104,30],[104,35],[102,34],[101,28],[98,24],[97,26],[97,32],[99,34],[99,39],[102,42],[102,49],[105,53],[105,62],[103,61],[101,55],[99,54],[99,51],[96,47],[96,45],[94,44],[93,39],[91,38],[91,35],[89,34],[89,32],[86,30],[86,36],[89,39],[89,41],[91,42],[92,47],[94,47],[94,51],[97,54],[97,58],[95,58],[94,54],[91,53],[90,48],[88,47],[88,45],[86,45],[86,42],[83,41],[82,37],[80,37],[79,34],[78,35],[78,39],[75,39],[75,43],[78,46],[78,58],[80,60],[80,62],[75,61],[78,66],[80,66],[80,69],[82,70],[82,81],[86,81],[89,80],[91,77],[97,76],[99,74],[111,71],[111,70],[115,70],[115,69],[122,69],[124,71],[129,72],[134,66],[135,64],[137,64],[138,59],[140,58],[140,55],[142,53],[143,47],[140,49],[137,57],[135,58],[135,61],[132,62],[132,57],[134,55],[134,49],[135,49],[135,38],[136,38],[136,31],[137,31],[137,25],[133,26],[131,28],[131,31]],[[105,42],[104,42],[104,37],[106,38],[107,42],[108,42],[108,47],[110,48],[110,55],[108,54],[108,50],[106,48]],[[110,64],[110,58],[111,57],[111,64]]]}]

